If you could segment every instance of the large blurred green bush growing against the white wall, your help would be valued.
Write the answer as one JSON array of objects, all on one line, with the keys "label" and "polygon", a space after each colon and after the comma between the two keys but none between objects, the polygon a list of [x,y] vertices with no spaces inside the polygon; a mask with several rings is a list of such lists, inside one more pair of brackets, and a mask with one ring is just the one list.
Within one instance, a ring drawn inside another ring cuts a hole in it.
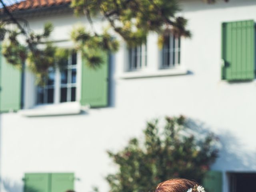
[{"label": "large blurred green bush growing against the white wall", "polygon": [[158,121],[148,122],[144,142],[137,138],[118,152],[108,152],[118,172],[107,176],[111,192],[152,190],[170,178],[201,182],[218,155],[213,134],[193,133],[184,116],[166,118],[164,128]]}]

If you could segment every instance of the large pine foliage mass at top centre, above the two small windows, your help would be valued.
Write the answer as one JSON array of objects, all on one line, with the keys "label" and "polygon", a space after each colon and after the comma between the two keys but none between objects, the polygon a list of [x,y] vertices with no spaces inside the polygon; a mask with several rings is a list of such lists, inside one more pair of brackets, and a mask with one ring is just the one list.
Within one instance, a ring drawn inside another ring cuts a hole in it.
[{"label": "large pine foliage mass at top centre, above the two small windows", "polygon": [[72,0],[71,7],[89,21],[101,14],[130,46],[146,42],[150,31],[190,36],[186,19],[175,16],[180,11],[177,0]]}]

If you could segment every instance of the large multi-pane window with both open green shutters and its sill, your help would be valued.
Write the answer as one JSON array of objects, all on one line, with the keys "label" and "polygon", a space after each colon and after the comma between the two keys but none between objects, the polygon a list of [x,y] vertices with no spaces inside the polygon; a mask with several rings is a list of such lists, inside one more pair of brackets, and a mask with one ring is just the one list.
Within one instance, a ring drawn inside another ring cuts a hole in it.
[{"label": "large multi-pane window with both open green shutters and its sill", "polygon": [[[86,59],[79,52],[70,52],[64,67],[49,70],[49,78],[44,86],[36,86],[36,76],[28,70],[24,71],[22,82],[20,70],[10,66],[1,53],[0,58],[0,112],[22,108],[22,116],[47,116],[77,114],[81,106],[109,106],[109,84],[112,78],[109,78],[111,60],[107,52],[102,52],[103,63],[97,68],[88,66]],[[38,104],[49,105],[36,106]]]}]

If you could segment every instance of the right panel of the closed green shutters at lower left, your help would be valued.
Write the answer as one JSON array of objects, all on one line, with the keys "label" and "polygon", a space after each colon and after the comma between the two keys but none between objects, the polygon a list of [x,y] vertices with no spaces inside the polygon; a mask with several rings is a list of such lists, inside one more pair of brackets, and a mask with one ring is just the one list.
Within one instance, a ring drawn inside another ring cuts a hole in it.
[{"label": "right panel of the closed green shutters at lower left", "polygon": [[74,190],[74,173],[53,173],[51,192]]}]

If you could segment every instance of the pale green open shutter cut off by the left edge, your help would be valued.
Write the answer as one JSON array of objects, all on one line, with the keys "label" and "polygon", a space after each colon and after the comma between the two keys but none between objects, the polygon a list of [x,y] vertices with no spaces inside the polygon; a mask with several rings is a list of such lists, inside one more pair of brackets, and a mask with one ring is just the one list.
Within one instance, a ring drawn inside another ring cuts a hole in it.
[{"label": "pale green open shutter cut off by the left edge", "polygon": [[21,71],[8,64],[0,44],[0,112],[20,109]]}]

